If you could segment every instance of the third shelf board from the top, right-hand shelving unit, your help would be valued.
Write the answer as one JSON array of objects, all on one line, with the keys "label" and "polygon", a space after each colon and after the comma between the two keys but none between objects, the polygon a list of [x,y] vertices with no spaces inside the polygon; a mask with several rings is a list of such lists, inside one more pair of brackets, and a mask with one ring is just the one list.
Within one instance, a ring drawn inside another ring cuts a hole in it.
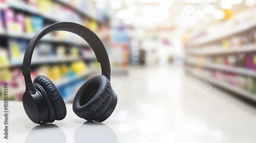
[{"label": "third shelf board from the top, right-hand shelving unit", "polygon": [[236,73],[236,74],[241,74],[245,76],[251,76],[251,77],[256,77],[256,72],[252,69],[246,69],[242,67],[231,67],[231,66],[225,66],[225,65],[220,65],[220,64],[196,64],[196,63],[189,63],[190,65],[196,65],[196,66],[202,66],[205,68],[211,68],[215,70],[220,70],[222,71],[223,68],[227,69],[225,71],[230,72],[230,73]]}]

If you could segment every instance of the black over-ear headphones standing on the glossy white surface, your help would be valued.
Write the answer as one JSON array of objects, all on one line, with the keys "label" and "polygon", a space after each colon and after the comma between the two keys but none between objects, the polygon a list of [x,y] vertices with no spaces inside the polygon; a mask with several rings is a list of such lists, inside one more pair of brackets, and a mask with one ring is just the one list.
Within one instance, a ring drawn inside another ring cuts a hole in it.
[{"label": "black over-ear headphones standing on the glossy white surface", "polygon": [[73,22],[58,22],[48,26],[30,40],[24,60],[23,76],[26,91],[23,106],[30,120],[37,124],[62,120],[67,114],[66,105],[52,81],[45,76],[37,76],[32,83],[30,76],[31,58],[37,42],[54,31],[68,31],[81,36],[92,47],[101,65],[102,75],[95,76],[84,83],[77,91],[73,111],[87,121],[103,122],[114,111],[117,95],[110,84],[110,61],[99,37],[91,30]]}]

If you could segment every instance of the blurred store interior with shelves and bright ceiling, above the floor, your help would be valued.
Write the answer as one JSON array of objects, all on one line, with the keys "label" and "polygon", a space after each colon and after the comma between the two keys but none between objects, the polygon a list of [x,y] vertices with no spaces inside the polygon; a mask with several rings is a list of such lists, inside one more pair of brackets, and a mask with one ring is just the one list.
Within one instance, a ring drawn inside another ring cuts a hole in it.
[{"label": "blurred store interior with shelves and bright ceiling, above the floor", "polygon": [[[1,0],[0,82],[8,82],[13,89],[11,100],[22,100],[22,61],[29,40],[52,23],[72,21],[88,27],[103,41],[113,76],[123,77],[134,66],[175,66],[207,79],[205,84],[255,100],[255,3]],[[80,85],[100,74],[100,67],[87,42],[68,32],[54,32],[37,44],[31,74],[33,79],[49,77],[65,101],[72,102]],[[207,92],[204,87],[197,90],[200,95]]]}]

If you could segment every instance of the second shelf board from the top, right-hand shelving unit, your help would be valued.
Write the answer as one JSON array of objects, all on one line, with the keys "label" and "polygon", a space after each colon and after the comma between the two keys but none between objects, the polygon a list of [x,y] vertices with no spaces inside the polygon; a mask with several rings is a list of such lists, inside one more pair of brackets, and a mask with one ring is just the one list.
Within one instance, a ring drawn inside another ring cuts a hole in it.
[{"label": "second shelf board from the top, right-hand shelving unit", "polygon": [[249,45],[249,49],[240,48],[230,48],[230,49],[216,49],[216,50],[193,50],[193,52],[188,52],[189,55],[223,55],[223,54],[232,54],[240,52],[256,52],[256,45]]}]

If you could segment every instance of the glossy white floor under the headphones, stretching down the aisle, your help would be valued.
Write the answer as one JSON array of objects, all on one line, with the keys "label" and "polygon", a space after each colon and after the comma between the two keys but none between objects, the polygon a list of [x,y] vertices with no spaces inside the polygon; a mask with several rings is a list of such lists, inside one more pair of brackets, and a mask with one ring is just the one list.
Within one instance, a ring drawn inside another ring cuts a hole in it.
[{"label": "glossy white floor under the headphones, stretching down the aisle", "polygon": [[[77,117],[72,105],[62,121],[38,126],[21,102],[10,102],[9,139],[1,142],[218,142],[256,140],[256,108],[218,88],[200,97],[203,82],[181,67],[133,68],[112,76],[118,105],[103,123]],[[3,108],[3,101],[0,102]],[[3,132],[3,115],[0,116]]]}]

